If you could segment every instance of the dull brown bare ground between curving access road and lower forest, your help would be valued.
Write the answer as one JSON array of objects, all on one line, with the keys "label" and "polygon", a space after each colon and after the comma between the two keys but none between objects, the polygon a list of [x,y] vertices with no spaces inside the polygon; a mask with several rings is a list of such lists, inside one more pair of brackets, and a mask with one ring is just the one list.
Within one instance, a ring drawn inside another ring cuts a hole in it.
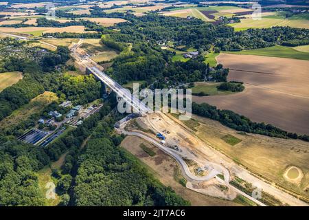
[{"label": "dull brown bare ground between curving access road and lower forest", "polygon": [[[150,157],[144,152],[139,144],[144,143],[148,148],[156,153],[154,157]],[[159,148],[148,144],[144,140],[135,136],[128,136],[122,142],[122,147],[126,148],[130,153],[135,155],[137,158],[144,162],[150,167],[151,173],[155,175],[165,186],[170,186],[175,192],[187,199],[192,203],[192,206],[239,206],[240,204],[233,201],[227,201],[223,199],[217,199],[209,197],[201,193],[195,192],[184,186],[181,186],[179,182],[174,179],[176,169],[178,168],[177,163],[170,156],[163,153]]]}]

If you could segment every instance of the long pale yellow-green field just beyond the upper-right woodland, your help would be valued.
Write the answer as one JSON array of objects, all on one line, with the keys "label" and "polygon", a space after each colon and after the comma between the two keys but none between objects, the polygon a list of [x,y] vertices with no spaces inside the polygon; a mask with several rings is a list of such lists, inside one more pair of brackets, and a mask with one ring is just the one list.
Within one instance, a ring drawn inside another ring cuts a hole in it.
[{"label": "long pale yellow-green field just beyond the upper-right woodland", "polygon": [[253,20],[251,18],[241,19],[240,23],[229,24],[235,30],[246,30],[248,28],[271,28],[273,26],[290,26],[291,28],[309,28],[309,22],[303,20],[289,19],[267,19]]}]

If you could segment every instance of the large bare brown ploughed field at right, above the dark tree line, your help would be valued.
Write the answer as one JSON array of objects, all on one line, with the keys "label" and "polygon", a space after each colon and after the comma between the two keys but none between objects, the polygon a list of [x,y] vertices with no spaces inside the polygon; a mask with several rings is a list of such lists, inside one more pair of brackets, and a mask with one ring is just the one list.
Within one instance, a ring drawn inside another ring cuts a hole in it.
[{"label": "large bare brown ploughed field at right, above the dark tree line", "polygon": [[228,96],[194,96],[194,102],[309,134],[308,61],[236,54],[220,54],[217,60],[230,68],[228,80],[242,81],[246,89]]}]

